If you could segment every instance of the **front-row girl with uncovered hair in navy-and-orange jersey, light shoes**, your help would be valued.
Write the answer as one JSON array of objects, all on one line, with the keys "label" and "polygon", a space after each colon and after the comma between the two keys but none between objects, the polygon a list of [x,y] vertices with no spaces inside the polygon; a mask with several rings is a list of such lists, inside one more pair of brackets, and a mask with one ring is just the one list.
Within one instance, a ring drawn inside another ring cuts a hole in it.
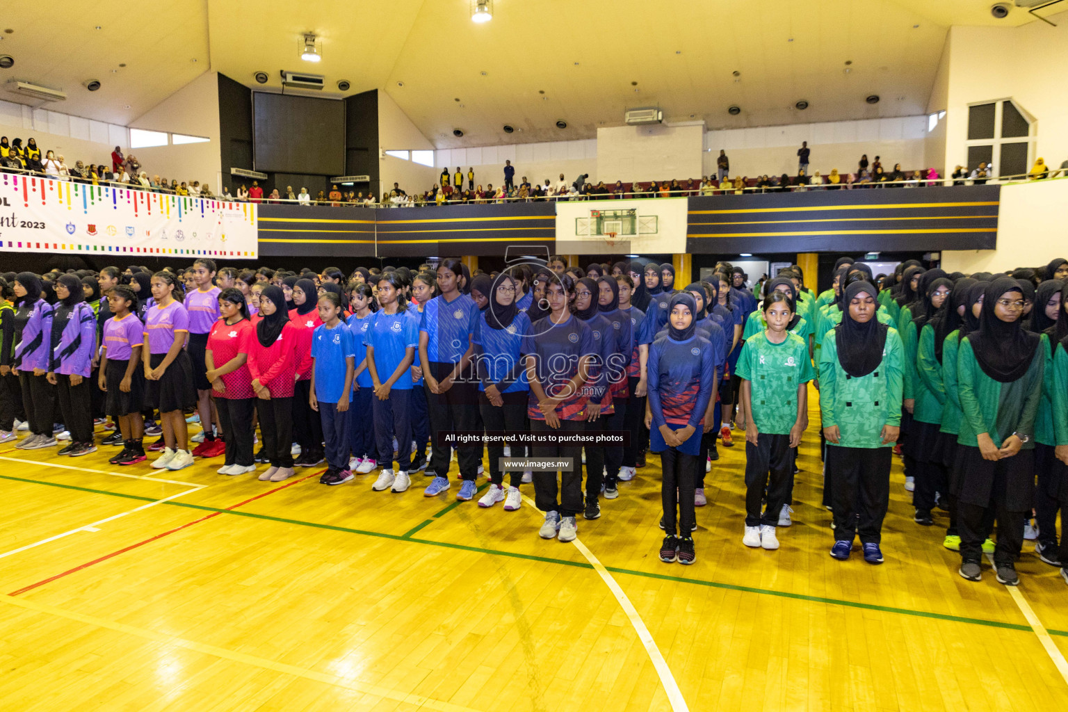
[{"label": "front-row girl with uncovered hair in navy-and-orange jersey, light shoes", "polygon": [[[531,430],[540,433],[578,434],[585,430],[586,396],[594,361],[594,337],[590,327],[569,311],[575,281],[567,274],[553,276],[546,288],[549,316],[532,325],[525,357],[530,396],[527,415]],[[543,539],[557,536],[572,541],[578,535],[576,516],[582,511],[582,447],[577,444],[535,445],[534,457],[569,459],[555,472],[534,473],[534,500],[546,512],[538,531]],[[559,494],[559,499],[557,499]]]}]

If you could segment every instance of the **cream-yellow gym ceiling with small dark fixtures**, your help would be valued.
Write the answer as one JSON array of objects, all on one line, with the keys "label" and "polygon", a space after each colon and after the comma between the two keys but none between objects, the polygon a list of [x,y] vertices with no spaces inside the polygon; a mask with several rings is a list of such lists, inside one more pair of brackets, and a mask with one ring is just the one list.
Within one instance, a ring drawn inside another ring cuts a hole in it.
[{"label": "cream-yellow gym ceiling with small dark fixtures", "polygon": [[[126,125],[207,69],[250,86],[263,70],[276,89],[281,69],[298,69],[325,75],[326,96],[342,95],[340,79],[346,95],[384,90],[442,148],[592,138],[643,106],[709,128],[904,116],[926,110],[951,25],[1036,21],[1019,9],[996,20],[991,4],[493,0],[492,21],[476,25],[471,0],[15,2],[0,18],[0,54],[15,58],[0,98],[40,106],[3,91],[33,81],[67,93],[49,109]],[[318,64],[298,57],[309,31]]]}]

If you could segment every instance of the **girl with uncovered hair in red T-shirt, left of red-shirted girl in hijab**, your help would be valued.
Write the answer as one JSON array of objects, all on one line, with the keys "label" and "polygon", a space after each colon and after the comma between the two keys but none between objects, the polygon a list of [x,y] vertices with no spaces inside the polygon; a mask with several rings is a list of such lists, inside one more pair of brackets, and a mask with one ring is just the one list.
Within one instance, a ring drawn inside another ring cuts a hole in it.
[{"label": "girl with uncovered hair in red T-shirt, left of red-shirted girl in hijab", "polygon": [[256,337],[249,320],[245,295],[234,287],[219,294],[221,318],[211,325],[205,350],[206,378],[211,383],[219,424],[225,433],[225,455],[220,475],[255,472],[252,441],[255,436],[255,393],[248,367],[249,341]]}]

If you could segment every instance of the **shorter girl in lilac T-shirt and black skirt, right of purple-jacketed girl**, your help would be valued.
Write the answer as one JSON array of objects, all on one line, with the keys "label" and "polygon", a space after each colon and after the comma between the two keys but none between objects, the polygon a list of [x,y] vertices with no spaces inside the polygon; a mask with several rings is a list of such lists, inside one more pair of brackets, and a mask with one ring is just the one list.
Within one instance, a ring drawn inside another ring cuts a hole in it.
[{"label": "shorter girl in lilac T-shirt and black skirt, right of purple-jacketed girl", "polygon": [[99,386],[106,395],[105,411],[115,422],[123,439],[123,449],[108,460],[111,464],[144,462],[144,369],[141,349],[144,328],[130,310],[137,306],[137,295],[127,286],[112,287],[108,307],[113,315],[104,323],[104,352]]}]

